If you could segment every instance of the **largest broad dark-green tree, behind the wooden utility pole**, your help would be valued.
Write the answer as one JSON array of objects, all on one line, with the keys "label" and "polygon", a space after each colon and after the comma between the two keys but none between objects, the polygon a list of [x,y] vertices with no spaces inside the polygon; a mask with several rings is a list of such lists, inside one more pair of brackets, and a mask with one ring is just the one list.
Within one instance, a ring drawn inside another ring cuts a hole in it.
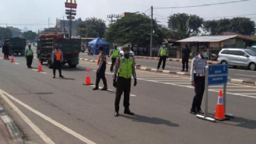
[{"label": "largest broad dark-green tree, behind the wooden utility pole", "polygon": [[[110,25],[105,33],[105,38],[118,44],[131,43],[133,45],[149,46],[151,33],[151,20],[149,17],[138,13],[129,13]],[[154,44],[162,43],[165,30],[153,21]]]}]

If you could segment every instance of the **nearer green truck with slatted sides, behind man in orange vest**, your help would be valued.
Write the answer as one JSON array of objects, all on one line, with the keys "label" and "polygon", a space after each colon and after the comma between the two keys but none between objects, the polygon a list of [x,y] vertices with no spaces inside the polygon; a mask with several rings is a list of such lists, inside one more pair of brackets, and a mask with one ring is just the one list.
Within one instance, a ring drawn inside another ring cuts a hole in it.
[{"label": "nearer green truck with slatted sides, behind man in orange vest", "polygon": [[51,55],[56,44],[63,53],[62,65],[67,63],[70,68],[76,68],[79,63],[81,39],[65,39],[61,34],[40,35],[36,53],[41,64],[47,62],[48,67],[52,68]]}]

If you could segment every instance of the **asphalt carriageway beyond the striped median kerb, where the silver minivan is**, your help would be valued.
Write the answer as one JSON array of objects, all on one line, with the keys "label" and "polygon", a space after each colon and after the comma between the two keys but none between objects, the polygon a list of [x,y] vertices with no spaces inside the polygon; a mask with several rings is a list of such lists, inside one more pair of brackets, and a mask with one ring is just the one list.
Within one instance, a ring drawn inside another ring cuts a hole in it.
[{"label": "asphalt carriageway beyond the striped median kerb, where the silver minivan is", "polygon": [[[88,56],[85,53],[79,54],[80,58],[89,58],[89,59],[97,59],[97,56]],[[111,61],[111,58],[108,58],[108,61]],[[136,59],[137,64],[141,64],[141,66],[145,66],[148,68],[157,68],[158,60],[151,59]],[[189,72],[191,68],[191,63],[189,63]],[[162,65],[160,67],[162,69]],[[180,72],[182,69],[182,63],[180,61],[166,61],[165,70],[172,70]],[[245,68],[233,68],[229,67],[228,76],[235,79],[245,79],[245,80],[253,80],[256,81],[256,71],[251,71]]]}]

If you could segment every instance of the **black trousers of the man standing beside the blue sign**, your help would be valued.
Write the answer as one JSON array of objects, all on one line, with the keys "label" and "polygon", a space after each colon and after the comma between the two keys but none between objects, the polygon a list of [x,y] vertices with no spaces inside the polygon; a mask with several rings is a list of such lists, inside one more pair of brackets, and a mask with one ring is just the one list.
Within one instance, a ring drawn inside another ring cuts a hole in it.
[{"label": "black trousers of the man standing beside the blue sign", "polygon": [[204,95],[205,77],[195,76],[194,74],[194,82],[195,82],[195,96],[193,98],[191,110],[201,110],[201,104],[202,104],[202,99]]}]

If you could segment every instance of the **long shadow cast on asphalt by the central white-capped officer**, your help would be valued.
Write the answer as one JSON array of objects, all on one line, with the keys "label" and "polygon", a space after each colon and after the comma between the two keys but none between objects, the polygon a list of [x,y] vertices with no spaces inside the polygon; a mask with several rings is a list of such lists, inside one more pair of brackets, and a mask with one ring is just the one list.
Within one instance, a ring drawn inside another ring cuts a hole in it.
[{"label": "long shadow cast on asphalt by the central white-capped officer", "polygon": [[147,116],[141,116],[141,115],[134,115],[134,116],[126,116],[126,115],[120,115],[125,118],[129,118],[134,122],[143,122],[143,123],[150,123],[155,125],[167,125],[169,127],[179,127],[179,124],[171,123],[169,120],[164,120],[157,117],[147,117]]}]

